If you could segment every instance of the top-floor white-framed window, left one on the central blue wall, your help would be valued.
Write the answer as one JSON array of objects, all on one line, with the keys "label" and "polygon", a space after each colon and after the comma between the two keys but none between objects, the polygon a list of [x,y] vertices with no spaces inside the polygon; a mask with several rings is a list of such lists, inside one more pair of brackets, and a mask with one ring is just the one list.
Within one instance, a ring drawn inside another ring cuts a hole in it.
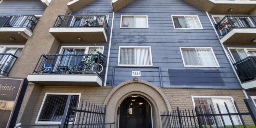
[{"label": "top-floor white-framed window, left one on the central blue wall", "polygon": [[120,28],[148,28],[147,15],[121,15]]}]

